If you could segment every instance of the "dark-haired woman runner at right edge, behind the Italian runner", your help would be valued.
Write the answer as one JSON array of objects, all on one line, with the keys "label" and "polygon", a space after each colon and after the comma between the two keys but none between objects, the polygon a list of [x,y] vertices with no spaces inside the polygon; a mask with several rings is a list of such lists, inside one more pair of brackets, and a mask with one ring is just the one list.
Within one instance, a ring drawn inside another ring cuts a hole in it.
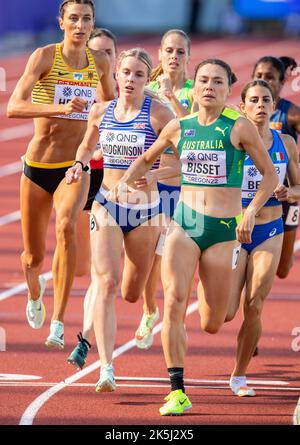
[{"label": "dark-haired woman runner at right edge, behind the Italian runner", "polygon": [[[300,108],[280,97],[282,88],[287,80],[289,68],[293,70],[297,63],[291,57],[265,56],[259,59],[254,67],[253,79],[262,79],[272,88],[275,110],[270,119],[270,126],[282,134],[289,134],[297,143],[300,133]],[[288,184],[285,182],[285,185]],[[294,243],[299,222],[299,206],[295,202],[283,202],[284,236],[280,261],[277,270],[279,278],[286,278],[293,265]]]}]

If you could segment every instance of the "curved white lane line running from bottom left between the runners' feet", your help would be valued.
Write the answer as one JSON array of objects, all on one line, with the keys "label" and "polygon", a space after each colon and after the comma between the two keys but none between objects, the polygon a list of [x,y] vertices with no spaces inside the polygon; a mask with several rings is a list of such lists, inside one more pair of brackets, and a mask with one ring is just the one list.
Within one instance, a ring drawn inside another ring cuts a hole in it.
[{"label": "curved white lane line running from bottom left between the runners' feet", "polygon": [[[188,306],[187,309],[187,315],[191,314],[198,308],[198,301],[195,301],[194,303],[191,303]],[[153,334],[157,334],[161,331],[162,323],[159,323],[155,328],[153,329]],[[113,359],[116,359],[120,355],[124,354],[124,352],[129,351],[130,349],[136,347],[135,340],[132,339],[125,343],[124,345],[117,348],[113,353]],[[32,425],[35,416],[39,412],[39,410],[42,408],[42,406],[56,393],[58,393],[61,389],[64,389],[66,386],[68,386],[70,383],[77,382],[77,380],[81,379],[82,377],[90,374],[91,372],[95,371],[96,369],[99,369],[100,367],[100,360],[97,360],[96,362],[89,365],[87,368],[83,369],[82,371],[79,371],[70,377],[68,377],[63,382],[58,383],[57,385],[53,386],[52,388],[48,389],[44,393],[42,393],[39,397],[37,397],[25,410],[23,413],[20,425]]]}]

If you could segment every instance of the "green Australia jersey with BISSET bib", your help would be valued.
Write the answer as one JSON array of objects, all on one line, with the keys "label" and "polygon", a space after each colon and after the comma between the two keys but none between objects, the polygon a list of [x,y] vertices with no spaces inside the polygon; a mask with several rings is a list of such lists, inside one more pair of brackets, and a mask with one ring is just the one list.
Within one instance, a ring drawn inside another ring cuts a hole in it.
[{"label": "green Australia jersey with BISSET bib", "polygon": [[225,108],[211,125],[200,125],[198,113],[180,119],[178,151],[183,185],[242,186],[245,151],[230,141],[232,127],[240,116]]}]

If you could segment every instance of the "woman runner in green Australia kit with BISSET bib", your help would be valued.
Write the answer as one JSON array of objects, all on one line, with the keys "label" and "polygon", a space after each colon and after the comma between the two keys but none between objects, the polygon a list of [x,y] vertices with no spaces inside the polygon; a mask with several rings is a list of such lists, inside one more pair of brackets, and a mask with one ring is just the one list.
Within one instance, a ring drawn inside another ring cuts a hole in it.
[{"label": "woman runner in green Australia kit with BISSET bib", "polygon": [[[255,214],[278,181],[253,125],[239,113],[225,108],[234,81],[235,76],[223,61],[201,62],[194,85],[199,112],[172,120],[111,191],[111,197],[118,200],[127,184],[141,177],[170,145],[180,157],[180,201],[162,257],[165,296],[162,344],[172,387],[160,408],[163,416],[183,414],[192,406],[184,392],[187,347],[184,319],[196,268],[203,286],[198,288],[201,326],[209,333],[216,333],[224,323],[229,305],[240,248],[238,241],[251,242]],[[263,180],[239,222],[245,151]]]}]

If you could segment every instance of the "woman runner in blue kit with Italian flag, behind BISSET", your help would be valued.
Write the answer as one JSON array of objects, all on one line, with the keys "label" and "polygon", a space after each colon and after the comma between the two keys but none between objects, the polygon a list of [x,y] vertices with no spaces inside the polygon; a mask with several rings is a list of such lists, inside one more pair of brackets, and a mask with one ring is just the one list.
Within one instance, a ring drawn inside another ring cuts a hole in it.
[{"label": "woman runner in blue kit with Italian flag, behind BISSET", "polygon": [[[230,387],[238,396],[254,396],[253,388],[246,383],[246,370],[261,336],[261,313],[278,267],[283,240],[283,201],[300,197],[300,171],[298,152],[294,139],[269,128],[274,111],[274,98],[269,84],[255,80],[242,92],[241,110],[256,126],[267,147],[276,172],[278,186],[274,194],[256,213],[252,242],[243,243],[234,280],[232,300],[226,321],[233,319],[245,287],[244,321],[238,334],[236,364],[230,379]],[[283,185],[288,177],[289,187]],[[261,174],[249,156],[244,164],[242,205],[244,211],[251,204],[261,182]]]}]

